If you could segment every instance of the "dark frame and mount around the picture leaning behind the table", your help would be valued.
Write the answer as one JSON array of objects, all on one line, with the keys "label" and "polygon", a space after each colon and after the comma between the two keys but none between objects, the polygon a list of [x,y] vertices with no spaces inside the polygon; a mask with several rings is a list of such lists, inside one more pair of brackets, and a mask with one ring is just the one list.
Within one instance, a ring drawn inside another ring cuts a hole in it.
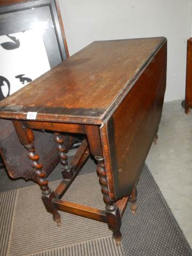
[{"label": "dark frame and mount around the picture leaning behind the table", "polygon": [[34,22],[46,24],[42,37],[50,68],[69,58],[58,0],[0,0],[0,36],[33,29]]}]

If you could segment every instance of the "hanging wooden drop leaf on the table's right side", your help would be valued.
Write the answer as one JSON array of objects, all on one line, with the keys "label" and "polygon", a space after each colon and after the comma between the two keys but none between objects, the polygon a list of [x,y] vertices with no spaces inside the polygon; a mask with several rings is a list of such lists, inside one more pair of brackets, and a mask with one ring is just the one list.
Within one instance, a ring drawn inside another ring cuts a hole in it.
[{"label": "hanging wooden drop leaf on the table's right side", "polygon": [[109,196],[113,200],[131,194],[157,133],[166,87],[166,49],[165,42],[101,127]]}]

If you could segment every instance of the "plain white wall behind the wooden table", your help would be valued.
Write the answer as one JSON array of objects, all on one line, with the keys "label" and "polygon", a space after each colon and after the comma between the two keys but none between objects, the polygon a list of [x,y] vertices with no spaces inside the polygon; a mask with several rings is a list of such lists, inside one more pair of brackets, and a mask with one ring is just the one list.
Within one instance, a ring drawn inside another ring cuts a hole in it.
[{"label": "plain white wall behind the wooden table", "polygon": [[185,95],[186,42],[192,0],[59,0],[72,55],[96,40],[165,36],[165,101]]}]

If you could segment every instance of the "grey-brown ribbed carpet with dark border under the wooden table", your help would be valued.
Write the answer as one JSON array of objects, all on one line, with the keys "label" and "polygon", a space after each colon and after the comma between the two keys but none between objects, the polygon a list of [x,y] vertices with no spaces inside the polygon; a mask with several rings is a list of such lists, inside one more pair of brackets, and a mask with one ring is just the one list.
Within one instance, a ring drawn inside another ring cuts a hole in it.
[{"label": "grey-brown ribbed carpet with dark border under the wooden table", "polygon": [[[60,165],[51,175],[51,188],[59,182],[59,169]],[[102,209],[105,205],[92,160],[81,174],[63,198]],[[10,181],[1,171],[0,188],[0,255],[192,255],[147,166],[138,183],[137,215],[130,213],[129,204],[123,215],[119,247],[102,222],[60,212],[62,226],[57,227],[44,209],[41,191],[32,182],[29,186],[19,180]]]}]

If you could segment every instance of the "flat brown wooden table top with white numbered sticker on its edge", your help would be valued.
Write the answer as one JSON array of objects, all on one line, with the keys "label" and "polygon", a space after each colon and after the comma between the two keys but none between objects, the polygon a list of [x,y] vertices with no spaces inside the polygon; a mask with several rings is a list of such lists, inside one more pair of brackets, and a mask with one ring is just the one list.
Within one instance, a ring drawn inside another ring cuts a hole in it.
[{"label": "flat brown wooden table top with white numbered sticker on its edge", "polygon": [[[97,41],[0,102],[0,118],[102,124],[164,37]],[[38,61],[38,60],[37,60]]]}]

